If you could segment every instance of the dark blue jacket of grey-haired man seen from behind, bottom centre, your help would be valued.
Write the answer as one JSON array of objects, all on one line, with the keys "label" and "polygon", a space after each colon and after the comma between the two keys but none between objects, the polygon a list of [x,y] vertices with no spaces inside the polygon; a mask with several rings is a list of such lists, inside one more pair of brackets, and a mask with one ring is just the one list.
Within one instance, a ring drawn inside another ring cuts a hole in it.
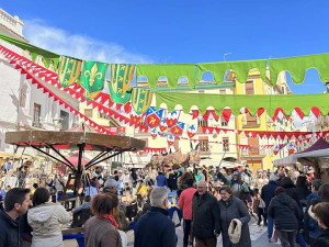
[{"label": "dark blue jacket of grey-haired man seen from behind, bottom centre", "polygon": [[168,211],[151,206],[135,226],[134,247],[175,247],[177,236]]}]

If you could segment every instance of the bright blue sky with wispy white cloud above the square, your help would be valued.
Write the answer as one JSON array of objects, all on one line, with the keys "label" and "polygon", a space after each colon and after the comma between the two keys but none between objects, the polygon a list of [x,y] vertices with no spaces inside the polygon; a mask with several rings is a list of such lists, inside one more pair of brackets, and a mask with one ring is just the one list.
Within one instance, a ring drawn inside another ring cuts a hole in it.
[{"label": "bright blue sky with wispy white cloud above the square", "polygon": [[[203,63],[329,52],[329,1],[2,1],[31,43],[109,63]],[[294,93],[325,91],[315,69]]]}]

